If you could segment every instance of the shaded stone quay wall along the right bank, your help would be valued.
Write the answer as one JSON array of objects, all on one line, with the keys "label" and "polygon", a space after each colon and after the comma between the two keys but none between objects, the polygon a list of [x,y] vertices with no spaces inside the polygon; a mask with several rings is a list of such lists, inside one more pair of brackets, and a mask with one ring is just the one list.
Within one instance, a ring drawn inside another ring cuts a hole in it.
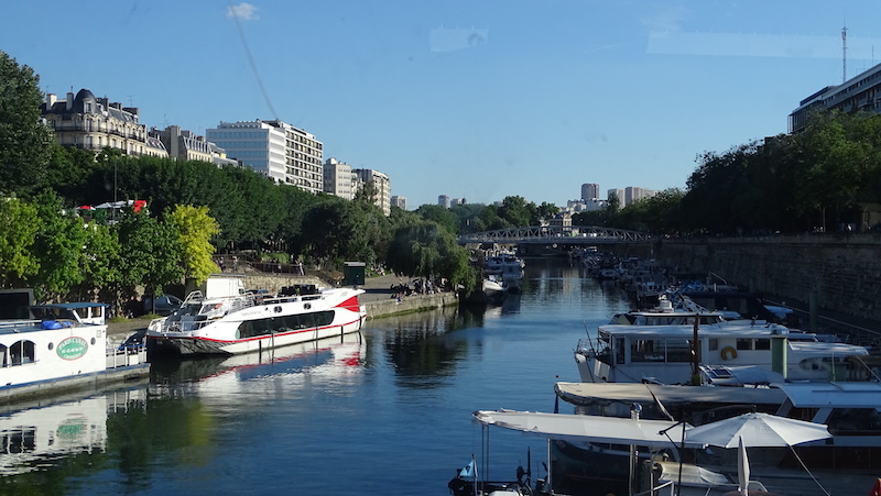
[{"label": "shaded stone quay wall along the right bank", "polygon": [[665,239],[650,253],[678,272],[881,322],[881,234]]}]

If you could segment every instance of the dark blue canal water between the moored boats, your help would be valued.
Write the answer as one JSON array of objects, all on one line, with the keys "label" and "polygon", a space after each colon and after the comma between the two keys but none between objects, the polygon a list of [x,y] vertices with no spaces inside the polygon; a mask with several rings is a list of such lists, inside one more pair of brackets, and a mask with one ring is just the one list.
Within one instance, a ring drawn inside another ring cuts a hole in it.
[{"label": "dark blue canal water between the moored boats", "polygon": [[[376,319],[263,355],[154,364],[150,383],[0,416],[0,492],[445,495],[486,459],[471,411],[553,411],[573,350],[629,309],[563,260],[527,260],[522,295],[486,309]],[[569,412],[569,411],[565,411]],[[492,429],[489,476],[544,443]]]}]

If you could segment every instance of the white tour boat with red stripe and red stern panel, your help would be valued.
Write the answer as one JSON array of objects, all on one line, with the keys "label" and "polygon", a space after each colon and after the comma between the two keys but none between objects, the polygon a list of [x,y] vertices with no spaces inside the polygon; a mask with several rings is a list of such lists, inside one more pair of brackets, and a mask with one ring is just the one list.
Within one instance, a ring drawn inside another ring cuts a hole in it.
[{"label": "white tour boat with red stripe and red stern panel", "polygon": [[339,337],[361,329],[362,289],[285,288],[278,297],[246,293],[241,277],[211,276],[180,309],[150,322],[151,354],[237,354]]}]

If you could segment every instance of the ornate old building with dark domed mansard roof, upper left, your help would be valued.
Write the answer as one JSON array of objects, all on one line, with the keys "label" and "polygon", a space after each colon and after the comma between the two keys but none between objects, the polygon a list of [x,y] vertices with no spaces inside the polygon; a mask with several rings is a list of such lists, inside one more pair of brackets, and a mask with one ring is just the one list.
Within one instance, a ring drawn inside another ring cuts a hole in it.
[{"label": "ornate old building with dark domed mansard roof, upper left", "polygon": [[95,152],[109,146],[134,156],[159,153],[148,147],[146,126],[139,122],[138,108],[96,98],[86,88],[76,96],[68,92],[64,100],[48,93],[40,112],[62,146]]}]

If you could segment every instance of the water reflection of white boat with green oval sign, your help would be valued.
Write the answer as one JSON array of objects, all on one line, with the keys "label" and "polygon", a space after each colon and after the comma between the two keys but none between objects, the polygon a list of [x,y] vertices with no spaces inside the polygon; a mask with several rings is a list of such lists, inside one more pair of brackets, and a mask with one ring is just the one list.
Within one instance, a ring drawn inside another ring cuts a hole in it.
[{"label": "water reflection of white boat with green oval sign", "polygon": [[128,408],[144,392],[119,390],[0,416],[0,475],[44,471],[66,456],[104,451],[108,411]]}]

